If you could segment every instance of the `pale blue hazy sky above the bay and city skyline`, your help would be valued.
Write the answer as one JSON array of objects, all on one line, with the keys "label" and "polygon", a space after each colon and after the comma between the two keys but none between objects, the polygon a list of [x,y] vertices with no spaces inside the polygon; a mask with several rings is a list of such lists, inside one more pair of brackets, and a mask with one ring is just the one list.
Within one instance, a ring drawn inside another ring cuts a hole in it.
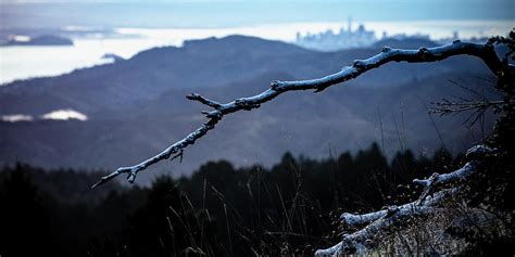
[{"label": "pale blue hazy sky above the bay and city skyline", "polygon": [[2,27],[224,27],[262,23],[515,20],[514,0],[0,0]]}]

